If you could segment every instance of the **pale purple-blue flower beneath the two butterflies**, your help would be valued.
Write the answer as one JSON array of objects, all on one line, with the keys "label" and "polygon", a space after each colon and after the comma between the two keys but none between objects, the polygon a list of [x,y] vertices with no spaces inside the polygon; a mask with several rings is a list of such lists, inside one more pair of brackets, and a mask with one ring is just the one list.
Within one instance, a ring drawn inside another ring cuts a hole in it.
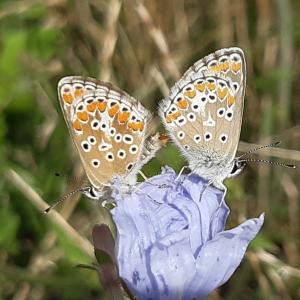
[{"label": "pale purple-blue flower beneath the two butterflies", "polygon": [[202,299],[230,278],[263,224],[261,215],[224,231],[224,193],[201,195],[196,175],[175,179],[164,168],[126,195],[114,184],[118,271],[138,299]]}]

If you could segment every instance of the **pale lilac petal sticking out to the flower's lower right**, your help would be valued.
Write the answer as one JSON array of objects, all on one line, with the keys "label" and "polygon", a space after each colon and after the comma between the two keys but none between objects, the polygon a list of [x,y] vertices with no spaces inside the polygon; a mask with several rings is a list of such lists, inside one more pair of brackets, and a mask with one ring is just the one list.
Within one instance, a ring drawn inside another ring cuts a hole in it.
[{"label": "pale lilac petal sticking out to the flower's lower right", "polygon": [[254,239],[264,222],[264,215],[250,219],[241,225],[217,234],[207,242],[197,258],[197,273],[186,286],[184,299],[202,298],[224,284],[245,254],[249,242]]}]

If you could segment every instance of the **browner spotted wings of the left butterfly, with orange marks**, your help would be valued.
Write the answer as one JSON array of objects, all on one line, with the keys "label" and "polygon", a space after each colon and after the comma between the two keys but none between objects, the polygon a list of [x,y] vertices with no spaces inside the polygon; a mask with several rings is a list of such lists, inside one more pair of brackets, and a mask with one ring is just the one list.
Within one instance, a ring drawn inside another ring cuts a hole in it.
[{"label": "browner spotted wings of the left butterfly, with orange marks", "polygon": [[93,78],[62,78],[58,94],[92,185],[130,174],[143,150],[150,113],[124,91]]}]

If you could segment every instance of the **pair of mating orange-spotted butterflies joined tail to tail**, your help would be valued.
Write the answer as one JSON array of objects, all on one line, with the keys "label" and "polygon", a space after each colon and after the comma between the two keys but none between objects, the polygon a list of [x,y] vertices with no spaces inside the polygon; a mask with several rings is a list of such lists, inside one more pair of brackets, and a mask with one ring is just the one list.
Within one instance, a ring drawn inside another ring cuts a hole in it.
[{"label": "pair of mating orange-spotted butterflies joined tail to tail", "polygon": [[[197,61],[159,105],[171,138],[191,171],[224,189],[238,174],[246,64],[243,51],[228,48]],[[91,186],[83,193],[102,199],[115,175],[133,185],[136,174],[164,144],[148,135],[150,113],[140,102],[101,81],[70,76],[58,84],[60,104]]]}]

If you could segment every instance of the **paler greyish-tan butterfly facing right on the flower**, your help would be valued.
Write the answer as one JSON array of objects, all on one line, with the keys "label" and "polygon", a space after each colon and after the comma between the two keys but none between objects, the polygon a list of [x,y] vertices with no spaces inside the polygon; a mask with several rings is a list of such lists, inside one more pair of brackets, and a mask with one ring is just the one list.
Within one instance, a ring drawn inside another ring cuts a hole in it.
[{"label": "paler greyish-tan butterfly facing right on the flower", "polygon": [[240,48],[218,50],[190,67],[159,105],[169,135],[191,171],[219,189],[239,174],[235,158],[246,87],[246,62]]}]

